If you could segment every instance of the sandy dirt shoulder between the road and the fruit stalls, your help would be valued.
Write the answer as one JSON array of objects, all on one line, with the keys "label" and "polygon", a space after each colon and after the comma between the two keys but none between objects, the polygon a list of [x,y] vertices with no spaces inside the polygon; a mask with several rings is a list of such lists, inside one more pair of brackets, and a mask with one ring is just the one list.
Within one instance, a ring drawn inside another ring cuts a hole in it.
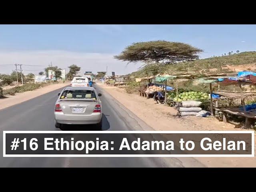
[{"label": "sandy dirt shoulder between the road and the fruit stalls", "polygon": [[[138,94],[128,94],[122,88],[107,86],[100,82],[97,84],[155,130],[243,130],[212,117],[187,116],[178,118],[176,117],[177,110],[172,107],[154,104],[152,99],[140,97]],[[256,157],[200,157],[196,159],[208,167],[256,167]]]}]

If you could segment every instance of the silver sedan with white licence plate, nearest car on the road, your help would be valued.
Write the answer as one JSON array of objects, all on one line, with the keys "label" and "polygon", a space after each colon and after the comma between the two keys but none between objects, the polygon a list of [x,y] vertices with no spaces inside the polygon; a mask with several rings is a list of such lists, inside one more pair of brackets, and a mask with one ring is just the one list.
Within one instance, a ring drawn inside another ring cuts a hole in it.
[{"label": "silver sedan with white licence plate, nearest car on the road", "polygon": [[96,124],[102,129],[101,101],[93,87],[66,87],[58,94],[54,124]]}]

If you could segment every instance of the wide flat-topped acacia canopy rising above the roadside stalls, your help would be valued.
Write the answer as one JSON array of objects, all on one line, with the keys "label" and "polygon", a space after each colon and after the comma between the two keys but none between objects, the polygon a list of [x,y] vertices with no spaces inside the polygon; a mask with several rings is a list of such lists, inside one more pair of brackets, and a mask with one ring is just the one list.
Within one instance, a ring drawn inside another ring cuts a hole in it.
[{"label": "wide flat-topped acacia canopy rising above the roadside stalls", "polygon": [[174,63],[198,59],[200,52],[203,50],[189,44],[158,40],[133,43],[114,58],[128,62]]}]

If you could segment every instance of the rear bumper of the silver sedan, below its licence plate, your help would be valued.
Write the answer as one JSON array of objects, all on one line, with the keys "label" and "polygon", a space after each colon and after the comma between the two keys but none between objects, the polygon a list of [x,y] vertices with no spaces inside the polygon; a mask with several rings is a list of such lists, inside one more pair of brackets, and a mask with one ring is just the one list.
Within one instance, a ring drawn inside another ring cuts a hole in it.
[{"label": "rear bumper of the silver sedan, below its licence plate", "polygon": [[54,112],[57,123],[61,124],[97,124],[102,119],[102,113],[92,114],[63,114],[63,112]]}]

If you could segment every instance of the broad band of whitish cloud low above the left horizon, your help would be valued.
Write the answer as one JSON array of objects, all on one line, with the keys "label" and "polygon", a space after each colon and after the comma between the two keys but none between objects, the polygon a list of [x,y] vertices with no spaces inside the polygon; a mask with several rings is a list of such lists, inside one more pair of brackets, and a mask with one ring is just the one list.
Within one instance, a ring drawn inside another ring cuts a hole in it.
[{"label": "broad band of whitish cloud low above the left horizon", "polygon": [[[28,70],[33,70],[34,74],[44,71],[44,68],[52,62],[53,66],[60,68],[68,68],[72,64],[81,67],[81,73],[85,71],[106,71],[108,66],[108,75],[114,71],[116,74],[128,74],[136,71],[140,64],[128,64],[113,58],[115,54],[102,53],[86,53],[86,52],[69,52],[61,50],[41,50],[41,51],[12,51],[0,52],[0,65],[12,64],[13,66],[0,66],[0,73],[10,73],[14,70],[14,64],[24,64],[23,70],[25,74]],[[41,65],[41,66],[25,66],[25,65]],[[34,71],[35,70],[35,71]]]}]

